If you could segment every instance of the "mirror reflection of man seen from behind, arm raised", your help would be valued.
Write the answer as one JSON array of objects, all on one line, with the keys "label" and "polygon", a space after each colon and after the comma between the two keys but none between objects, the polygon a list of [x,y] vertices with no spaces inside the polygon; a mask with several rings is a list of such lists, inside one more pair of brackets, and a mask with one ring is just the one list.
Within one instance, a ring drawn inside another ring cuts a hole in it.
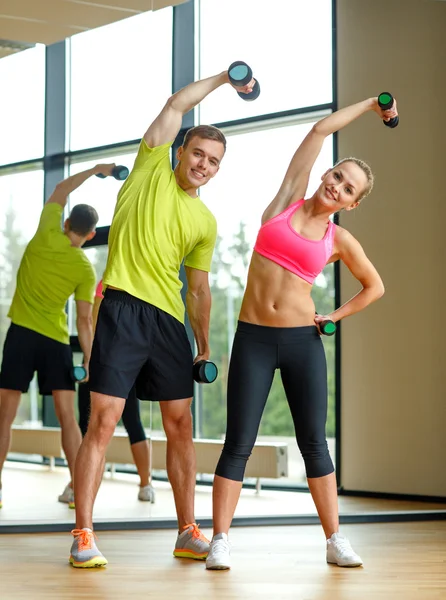
[{"label": "mirror reflection of man seen from behind, arm raised", "polygon": [[[56,186],[17,272],[0,373],[0,506],[1,470],[9,449],[11,425],[21,394],[27,391],[35,371],[40,393],[53,395],[62,447],[73,480],[81,433],[74,413],[73,359],[65,306],[74,294],[79,342],[88,373],[96,281],[94,269],[81,248],[94,237],[98,215],[91,206],[79,204],[62,230],[62,214],[71,192],[92,175],[110,175],[113,166],[97,165]],[[71,482],[59,500],[73,502]]]}]

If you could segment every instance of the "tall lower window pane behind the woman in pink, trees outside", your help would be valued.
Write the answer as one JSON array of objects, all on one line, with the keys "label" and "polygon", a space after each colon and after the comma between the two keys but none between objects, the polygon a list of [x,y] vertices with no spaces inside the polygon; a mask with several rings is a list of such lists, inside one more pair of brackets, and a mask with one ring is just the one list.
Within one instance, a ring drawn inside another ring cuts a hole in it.
[{"label": "tall lower window pane behind the woman in pink, trees outside", "polygon": [[[201,189],[201,197],[214,213],[219,236],[211,272],[212,314],[210,345],[219,377],[212,385],[198,386],[199,435],[223,438],[226,427],[228,360],[236,328],[247,268],[260,226],[261,215],[275,196],[291,157],[312,123],[234,135],[220,172]],[[274,148],[268,154],[268,175],[256,178],[256,148]],[[315,164],[307,195],[313,193],[321,175],[333,164],[332,139],[327,138]],[[240,168],[243,165],[243,168]],[[318,311],[329,310],[334,298],[333,267],[321,274],[314,286]],[[325,340],[324,340],[325,341]],[[334,340],[326,340],[330,381],[329,432],[334,433]],[[289,448],[290,480],[303,483],[303,462],[293,434],[292,420],[279,377],[273,384],[263,416],[260,438],[285,441]],[[332,454],[334,458],[334,453]]]}]

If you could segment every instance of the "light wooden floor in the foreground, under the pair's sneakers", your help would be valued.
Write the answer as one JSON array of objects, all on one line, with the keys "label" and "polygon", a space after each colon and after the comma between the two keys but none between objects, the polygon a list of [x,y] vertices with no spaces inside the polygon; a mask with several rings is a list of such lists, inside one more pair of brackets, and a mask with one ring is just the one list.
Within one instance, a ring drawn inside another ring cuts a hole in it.
[{"label": "light wooden floor in the foreground, under the pair's sneakers", "polygon": [[[104,532],[103,569],[73,569],[68,534],[0,537],[2,600],[444,600],[446,522],[347,525],[364,567],[325,562],[319,526],[237,528],[233,567],[172,556],[172,530]],[[208,532],[205,532],[208,533]]]}]

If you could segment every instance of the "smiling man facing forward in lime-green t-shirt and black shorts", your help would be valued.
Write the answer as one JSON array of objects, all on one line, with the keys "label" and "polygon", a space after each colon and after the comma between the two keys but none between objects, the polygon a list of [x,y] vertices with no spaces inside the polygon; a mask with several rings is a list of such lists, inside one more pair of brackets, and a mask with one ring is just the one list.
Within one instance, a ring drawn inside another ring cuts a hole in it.
[{"label": "smiling man facing forward in lime-green t-shirt and black shorts", "polygon": [[[192,128],[178,149],[174,171],[169,151],[183,116],[225,83],[227,72],[193,82],[167,101],[146,131],[118,195],[91,357],[90,423],[76,461],[76,529],[70,556],[75,567],[107,564],[94,541],[93,504],[107,444],[135,383],[138,398],[160,403],[179,526],[174,555],[204,560],[209,550],[194,515],[194,359],[178,273],[184,259],[186,308],[198,348],[195,361],[208,359],[208,272],[216,222],[197,190],[217,174],[226,140],[215,127]],[[249,93],[253,84],[235,89]]]}]

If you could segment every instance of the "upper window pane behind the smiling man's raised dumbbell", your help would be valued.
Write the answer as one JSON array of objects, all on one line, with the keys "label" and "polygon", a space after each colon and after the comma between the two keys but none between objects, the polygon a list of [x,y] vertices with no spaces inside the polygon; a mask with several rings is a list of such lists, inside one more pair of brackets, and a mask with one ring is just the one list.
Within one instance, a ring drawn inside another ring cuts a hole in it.
[{"label": "upper window pane behind the smiling man's raised dumbbell", "polygon": [[[228,85],[200,105],[200,123],[221,123],[332,101],[331,0],[277,0],[274,9],[258,0],[200,0],[199,77],[246,61],[257,75],[261,94],[243,102]],[[271,15],[279,26],[271,27]],[[246,33],[231,35],[240,24]]]}]

